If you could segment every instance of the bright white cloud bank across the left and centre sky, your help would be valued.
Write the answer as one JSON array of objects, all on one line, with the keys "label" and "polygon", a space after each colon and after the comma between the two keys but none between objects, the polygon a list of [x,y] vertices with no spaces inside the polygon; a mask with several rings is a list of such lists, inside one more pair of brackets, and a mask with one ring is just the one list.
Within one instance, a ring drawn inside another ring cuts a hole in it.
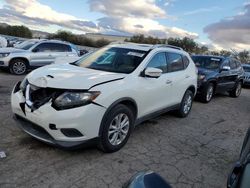
[{"label": "bright white cloud bank across the left and centre sky", "polygon": [[6,0],[6,3],[7,5],[0,9],[0,22],[21,23],[33,29],[64,28],[77,33],[102,32],[126,35],[142,33],[160,38],[198,37],[196,33],[160,24],[156,19],[168,19],[168,15],[156,5],[155,0],[89,0],[92,11],[105,15],[95,22],[55,11],[37,0]]}]

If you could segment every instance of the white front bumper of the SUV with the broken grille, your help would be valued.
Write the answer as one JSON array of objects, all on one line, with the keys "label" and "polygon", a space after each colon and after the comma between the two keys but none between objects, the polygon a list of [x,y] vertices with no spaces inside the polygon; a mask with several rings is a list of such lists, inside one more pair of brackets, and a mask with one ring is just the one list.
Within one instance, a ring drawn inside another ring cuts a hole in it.
[{"label": "white front bumper of the SUV with the broken grille", "polygon": [[[47,102],[32,111],[22,91],[13,90],[11,107],[21,128],[43,142],[62,147],[73,147],[99,136],[99,128],[106,108],[95,104],[57,111]],[[53,125],[53,127],[51,127]],[[35,128],[34,128],[35,127]],[[68,136],[65,129],[74,129],[81,136]],[[68,143],[67,143],[68,142]]]}]

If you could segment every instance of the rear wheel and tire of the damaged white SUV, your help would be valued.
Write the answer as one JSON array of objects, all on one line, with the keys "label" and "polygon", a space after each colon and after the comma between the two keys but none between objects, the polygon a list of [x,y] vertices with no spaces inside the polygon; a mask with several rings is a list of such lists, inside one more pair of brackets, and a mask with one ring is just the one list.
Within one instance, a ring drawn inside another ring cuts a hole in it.
[{"label": "rear wheel and tire of the damaged white SUV", "polygon": [[194,94],[192,91],[187,90],[182,99],[177,115],[181,118],[187,117],[193,105]]}]

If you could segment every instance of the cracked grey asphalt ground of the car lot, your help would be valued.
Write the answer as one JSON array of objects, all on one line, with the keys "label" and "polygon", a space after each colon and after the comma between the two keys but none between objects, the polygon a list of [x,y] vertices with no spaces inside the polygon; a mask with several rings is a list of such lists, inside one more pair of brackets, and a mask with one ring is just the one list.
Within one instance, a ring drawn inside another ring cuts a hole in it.
[{"label": "cracked grey asphalt ground of the car lot", "polygon": [[20,76],[0,71],[0,187],[121,187],[132,175],[153,170],[174,188],[226,187],[250,126],[250,89],[233,99],[218,95],[195,102],[190,116],[171,113],[136,127],[113,154],[95,148],[64,151],[31,138],[12,119],[10,93]]}]

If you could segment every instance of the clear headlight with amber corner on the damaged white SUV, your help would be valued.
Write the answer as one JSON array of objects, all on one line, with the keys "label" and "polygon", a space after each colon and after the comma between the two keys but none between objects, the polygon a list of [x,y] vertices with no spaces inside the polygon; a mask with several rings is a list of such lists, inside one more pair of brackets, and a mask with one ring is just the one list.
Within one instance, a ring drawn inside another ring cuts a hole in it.
[{"label": "clear headlight with amber corner on the damaged white SUV", "polygon": [[54,100],[57,109],[69,109],[90,104],[101,92],[74,92],[67,91]]}]

